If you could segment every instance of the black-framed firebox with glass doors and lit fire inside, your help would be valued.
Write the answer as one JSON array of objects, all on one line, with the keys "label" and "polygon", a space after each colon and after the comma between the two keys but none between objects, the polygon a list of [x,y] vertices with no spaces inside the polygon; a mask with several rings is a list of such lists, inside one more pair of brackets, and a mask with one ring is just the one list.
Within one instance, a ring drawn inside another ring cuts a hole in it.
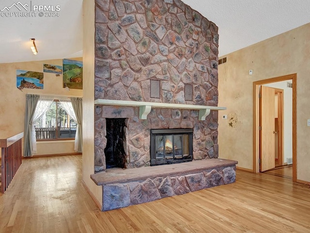
[{"label": "black-framed firebox with glass doors and lit fire inside", "polygon": [[193,160],[192,129],[151,130],[151,166]]}]

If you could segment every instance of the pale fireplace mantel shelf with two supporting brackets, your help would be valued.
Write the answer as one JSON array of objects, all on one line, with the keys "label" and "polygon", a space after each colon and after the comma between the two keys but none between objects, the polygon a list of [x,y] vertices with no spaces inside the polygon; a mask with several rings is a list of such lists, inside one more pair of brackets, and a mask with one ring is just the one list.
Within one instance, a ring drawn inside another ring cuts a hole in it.
[{"label": "pale fireplace mantel shelf with two supporting brackets", "polygon": [[194,104],[178,104],[178,103],[158,103],[158,102],[143,102],[143,101],[128,101],[128,100],[95,100],[97,105],[115,105],[115,106],[135,106],[140,107],[140,119],[145,120],[147,115],[154,108],[177,108],[177,109],[192,109],[199,110],[199,120],[205,120],[205,117],[210,114],[211,110],[226,110],[226,107],[194,105]]}]

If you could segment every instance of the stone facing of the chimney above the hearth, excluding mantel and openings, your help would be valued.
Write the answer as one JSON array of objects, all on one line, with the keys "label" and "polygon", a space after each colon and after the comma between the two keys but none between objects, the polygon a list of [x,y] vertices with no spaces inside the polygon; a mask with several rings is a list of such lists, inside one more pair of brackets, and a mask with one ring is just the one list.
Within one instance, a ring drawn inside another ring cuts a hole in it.
[{"label": "stone facing of the chimney above the hearth, excluding mantel and openings", "polygon": [[[96,0],[95,99],[217,106],[217,26],[180,0]],[[161,81],[160,99],[150,80]],[[185,101],[192,84],[192,101]],[[106,169],[105,118],[126,120],[126,167],[148,166],[150,129],[193,128],[194,159],[217,158],[217,112],[95,106],[95,172]]]}]

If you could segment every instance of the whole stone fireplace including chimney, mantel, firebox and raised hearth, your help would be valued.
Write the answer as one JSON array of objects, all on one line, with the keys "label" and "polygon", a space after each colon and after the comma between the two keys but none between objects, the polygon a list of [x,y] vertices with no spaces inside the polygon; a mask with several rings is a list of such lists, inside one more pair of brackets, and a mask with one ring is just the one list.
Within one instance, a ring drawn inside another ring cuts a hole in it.
[{"label": "whole stone fireplace including chimney, mantel, firebox and raised hearth", "polygon": [[[235,161],[185,165],[218,157],[217,30],[181,0],[95,1],[92,179],[103,210],[234,182]],[[156,178],[163,164],[173,167]]]}]

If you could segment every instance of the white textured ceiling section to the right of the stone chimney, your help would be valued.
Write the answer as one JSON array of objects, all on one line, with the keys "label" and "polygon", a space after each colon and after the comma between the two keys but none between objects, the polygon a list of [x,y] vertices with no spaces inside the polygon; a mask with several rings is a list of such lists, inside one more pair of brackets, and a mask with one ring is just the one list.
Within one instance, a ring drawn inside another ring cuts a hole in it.
[{"label": "white textured ceiling section to the right of the stone chimney", "polygon": [[219,56],[310,22],[309,0],[183,0],[218,26]]}]

